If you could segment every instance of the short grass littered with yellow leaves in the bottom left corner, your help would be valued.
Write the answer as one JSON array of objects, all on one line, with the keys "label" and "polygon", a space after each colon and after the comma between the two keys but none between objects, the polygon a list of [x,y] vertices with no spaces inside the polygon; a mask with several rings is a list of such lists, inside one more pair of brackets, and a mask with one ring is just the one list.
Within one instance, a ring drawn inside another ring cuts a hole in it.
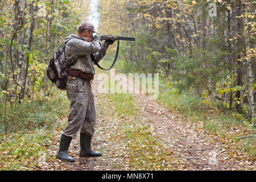
[{"label": "short grass littered with yellow leaves in the bottom left corner", "polygon": [[35,170],[40,158],[51,145],[51,132],[35,129],[30,133],[16,133],[8,139],[1,137],[1,170]]}]

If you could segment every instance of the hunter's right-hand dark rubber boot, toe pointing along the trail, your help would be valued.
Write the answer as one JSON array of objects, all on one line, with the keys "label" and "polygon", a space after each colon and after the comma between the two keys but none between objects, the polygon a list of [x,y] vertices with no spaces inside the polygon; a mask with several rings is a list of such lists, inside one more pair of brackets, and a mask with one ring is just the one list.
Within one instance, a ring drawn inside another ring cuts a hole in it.
[{"label": "hunter's right-hand dark rubber boot, toe pointing along the trail", "polygon": [[79,156],[80,157],[99,157],[101,156],[100,152],[94,152],[90,147],[90,143],[92,141],[92,137],[86,135],[84,133],[80,133],[80,147],[81,151]]}]

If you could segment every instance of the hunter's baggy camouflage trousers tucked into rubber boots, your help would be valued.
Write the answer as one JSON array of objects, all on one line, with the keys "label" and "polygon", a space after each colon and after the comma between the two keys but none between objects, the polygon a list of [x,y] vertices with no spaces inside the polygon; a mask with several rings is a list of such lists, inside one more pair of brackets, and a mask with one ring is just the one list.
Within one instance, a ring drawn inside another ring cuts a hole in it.
[{"label": "hunter's baggy camouflage trousers tucked into rubber boots", "polygon": [[62,134],[76,138],[77,132],[93,136],[96,124],[94,95],[90,81],[70,77],[66,86],[67,96],[71,101],[68,124]]}]

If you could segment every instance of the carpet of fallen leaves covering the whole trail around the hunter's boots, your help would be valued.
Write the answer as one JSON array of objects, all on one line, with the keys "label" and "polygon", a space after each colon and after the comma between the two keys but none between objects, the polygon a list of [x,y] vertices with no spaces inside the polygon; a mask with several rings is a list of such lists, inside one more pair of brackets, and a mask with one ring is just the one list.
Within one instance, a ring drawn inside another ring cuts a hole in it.
[{"label": "carpet of fallen leaves covering the whole trail around the hunter's boots", "polygon": [[[94,81],[94,87],[96,83]],[[19,163],[22,164],[18,168],[20,170],[255,169],[255,162],[237,150],[237,144],[227,135],[220,137],[209,133],[204,130],[203,121],[192,122],[144,94],[123,97],[96,92],[96,98],[96,110],[102,109],[104,113],[97,113],[92,148],[102,152],[100,158],[80,158],[77,137],[69,148],[69,154],[76,162],[66,163],[56,159],[61,131],[57,128],[48,139],[20,141],[22,146],[26,146],[27,142],[35,148],[47,148],[46,162],[42,166],[38,166],[38,158],[33,151],[19,151],[9,145],[1,150],[1,155],[5,156],[1,168]],[[59,125],[64,125],[66,120],[62,118],[58,121]],[[229,135],[237,133],[244,134],[246,131],[241,127],[229,131]],[[11,155],[11,152],[14,154]],[[20,158],[20,152],[28,157]]]}]

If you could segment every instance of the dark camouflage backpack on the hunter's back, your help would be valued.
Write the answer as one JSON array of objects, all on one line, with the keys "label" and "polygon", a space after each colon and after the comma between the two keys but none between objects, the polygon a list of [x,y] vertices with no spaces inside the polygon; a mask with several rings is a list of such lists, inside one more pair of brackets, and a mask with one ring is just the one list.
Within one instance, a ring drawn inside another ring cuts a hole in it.
[{"label": "dark camouflage backpack on the hunter's back", "polygon": [[[66,43],[67,44],[67,43]],[[47,77],[56,84],[58,89],[65,90],[68,81],[68,69],[76,63],[75,60],[68,64],[65,57],[65,47],[53,52],[53,56],[47,68]],[[72,58],[72,57],[71,57]]]}]

